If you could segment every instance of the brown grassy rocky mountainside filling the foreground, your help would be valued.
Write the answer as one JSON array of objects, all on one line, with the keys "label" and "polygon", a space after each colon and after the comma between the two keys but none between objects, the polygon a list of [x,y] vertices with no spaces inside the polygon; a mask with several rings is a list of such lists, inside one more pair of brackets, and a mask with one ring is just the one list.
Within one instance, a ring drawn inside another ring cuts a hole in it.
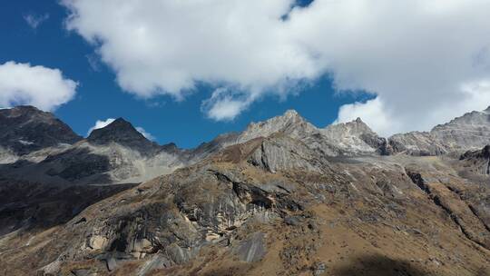
[{"label": "brown grassy rocky mountainside filling the foreground", "polygon": [[479,212],[488,206],[472,196],[488,196],[488,186],[452,175],[459,162],[332,160],[280,133],[256,138],[108,197],[69,222],[3,236],[0,252],[8,265],[2,269],[487,275],[490,232]]}]

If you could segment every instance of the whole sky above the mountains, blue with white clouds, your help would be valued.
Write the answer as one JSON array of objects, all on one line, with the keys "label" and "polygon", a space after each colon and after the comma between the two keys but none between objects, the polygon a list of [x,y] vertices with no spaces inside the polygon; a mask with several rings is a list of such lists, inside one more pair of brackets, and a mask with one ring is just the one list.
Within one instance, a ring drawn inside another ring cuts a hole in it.
[{"label": "whole sky above the mountains, blue with white clouds", "polygon": [[3,1],[0,107],[54,110],[81,135],[123,117],[184,148],[288,109],[320,127],[361,117],[383,136],[427,131],[490,105],[488,10],[483,0]]}]

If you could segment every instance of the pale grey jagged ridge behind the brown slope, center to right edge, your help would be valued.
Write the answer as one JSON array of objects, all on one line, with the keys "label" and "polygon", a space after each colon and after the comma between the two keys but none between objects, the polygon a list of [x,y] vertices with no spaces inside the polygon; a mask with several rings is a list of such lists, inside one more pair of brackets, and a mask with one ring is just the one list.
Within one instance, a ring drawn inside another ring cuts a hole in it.
[{"label": "pale grey jagged ridge behind the brown slope, center to right edge", "polygon": [[315,127],[295,111],[288,111],[261,123],[250,123],[242,133],[220,135],[211,143],[194,150],[193,160],[216,153],[237,143],[281,133],[297,139],[310,149],[328,156],[356,156],[407,153],[410,155],[441,155],[456,151],[476,150],[490,143],[490,108],[484,112],[466,113],[455,120],[437,125],[430,132],[395,134],[389,139],[379,137],[360,118],[349,123]]}]

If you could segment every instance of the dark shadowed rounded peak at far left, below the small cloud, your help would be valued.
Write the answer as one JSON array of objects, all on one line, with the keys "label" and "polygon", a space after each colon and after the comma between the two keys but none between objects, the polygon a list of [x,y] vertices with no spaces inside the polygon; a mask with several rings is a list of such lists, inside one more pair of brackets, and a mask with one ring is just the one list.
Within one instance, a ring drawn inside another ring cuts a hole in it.
[{"label": "dark shadowed rounded peak at far left, below the small cloud", "polygon": [[0,147],[17,155],[25,155],[60,143],[73,144],[82,137],[73,133],[53,113],[34,106],[0,109]]}]

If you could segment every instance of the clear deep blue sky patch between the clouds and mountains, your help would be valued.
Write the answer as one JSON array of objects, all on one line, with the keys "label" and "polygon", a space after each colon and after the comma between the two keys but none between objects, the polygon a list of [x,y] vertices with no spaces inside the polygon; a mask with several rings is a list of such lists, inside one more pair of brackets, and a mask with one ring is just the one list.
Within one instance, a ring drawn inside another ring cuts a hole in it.
[{"label": "clear deep blue sky patch between the clouds and mountains", "polygon": [[[93,46],[64,28],[67,11],[56,3],[22,0],[2,4],[0,33],[4,43],[0,44],[0,64],[15,61],[59,68],[65,77],[79,82],[75,98],[54,113],[81,135],[97,120],[123,117],[152,133],[158,143],[174,142],[187,148],[210,141],[220,133],[240,131],[250,122],[265,120],[291,108],[311,123],[325,126],[337,118],[340,105],[361,96],[335,94],[331,80],[325,76],[286,100],[266,96],[234,120],[216,122],[201,112],[201,102],[212,92],[206,85],[181,101],[167,95],[142,99],[123,92],[115,83],[111,68],[100,61],[98,71],[91,67],[87,56],[98,58]],[[26,23],[26,15],[49,15],[49,18],[34,29]]]}]

